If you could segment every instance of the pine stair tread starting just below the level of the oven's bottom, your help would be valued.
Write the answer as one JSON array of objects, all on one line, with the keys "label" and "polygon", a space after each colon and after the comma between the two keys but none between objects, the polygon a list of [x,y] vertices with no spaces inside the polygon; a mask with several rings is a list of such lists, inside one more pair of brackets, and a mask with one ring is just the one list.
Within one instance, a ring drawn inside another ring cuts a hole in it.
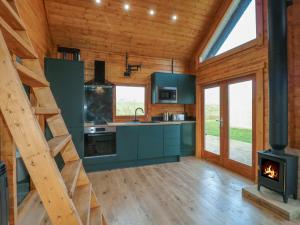
[{"label": "pine stair tread starting just below the level of the oven's bottom", "polygon": [[64,179],[70,197],[73,197],[74,195],[81,166],[81,160],[68,162],[65,164],[64,168],[61,171],[61,175]]}]

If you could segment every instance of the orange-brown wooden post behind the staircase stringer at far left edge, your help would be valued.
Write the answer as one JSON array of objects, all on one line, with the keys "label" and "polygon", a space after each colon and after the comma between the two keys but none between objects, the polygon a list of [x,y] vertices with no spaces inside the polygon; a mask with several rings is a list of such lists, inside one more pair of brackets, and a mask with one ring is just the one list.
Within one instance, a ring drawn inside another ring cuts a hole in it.
[{"label": "orange-brown wooden post behind the staircase stringer at far left edge", "polygon": [[16,146],[11,134],[0,113],[0,160],[3,161],[7,169],[8,193],[9,193],[9,224],[14,225],[17,221],[17,163]]}]

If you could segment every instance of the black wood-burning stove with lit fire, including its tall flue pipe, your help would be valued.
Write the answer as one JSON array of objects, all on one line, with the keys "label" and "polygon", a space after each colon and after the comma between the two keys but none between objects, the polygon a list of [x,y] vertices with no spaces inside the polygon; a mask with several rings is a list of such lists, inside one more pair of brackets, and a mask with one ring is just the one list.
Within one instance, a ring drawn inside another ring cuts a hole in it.
[{"label": "black wood-burning stove with lit fire, including its tall flue pipe", "polygon": [[285,154],[288,145],[287,7],[290,0],[269,0],[269,96],[271,150],[258,153],[258,190],[267,187],[297,198],[298,157]]}]

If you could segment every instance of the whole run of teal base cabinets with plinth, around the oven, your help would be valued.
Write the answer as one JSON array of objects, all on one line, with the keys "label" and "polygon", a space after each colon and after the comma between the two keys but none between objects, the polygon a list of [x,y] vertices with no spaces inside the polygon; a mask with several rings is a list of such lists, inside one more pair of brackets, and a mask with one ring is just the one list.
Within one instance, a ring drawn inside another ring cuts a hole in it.
[{"label": "whole run of teal base cabinets with plinth, around the oven", "polygon": [[119,126],[116,155],[84,158],[87,171],[126,168],[180,159],[180,125]]}]

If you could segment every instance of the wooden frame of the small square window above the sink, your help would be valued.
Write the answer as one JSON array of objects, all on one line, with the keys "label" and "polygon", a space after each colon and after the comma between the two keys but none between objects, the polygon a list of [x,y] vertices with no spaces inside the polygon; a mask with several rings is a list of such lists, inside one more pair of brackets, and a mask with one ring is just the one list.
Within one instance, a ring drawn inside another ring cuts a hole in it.
[{"label": "wooden frame of the small square window above the sink", "polygon": [[138,115],[137,119],[139,120],[146,120],[148,118],[148,86],[144,84],[118,84],[116,83],[113,88],[113,120],[114,122],[118,121],[130,121],[134,119],[134,115],[128,115],[128,116],[118,116],[117,115],[117,87],[143,87],[145,88],[145,102],[144,102],[144,112],[145,115]]}]

